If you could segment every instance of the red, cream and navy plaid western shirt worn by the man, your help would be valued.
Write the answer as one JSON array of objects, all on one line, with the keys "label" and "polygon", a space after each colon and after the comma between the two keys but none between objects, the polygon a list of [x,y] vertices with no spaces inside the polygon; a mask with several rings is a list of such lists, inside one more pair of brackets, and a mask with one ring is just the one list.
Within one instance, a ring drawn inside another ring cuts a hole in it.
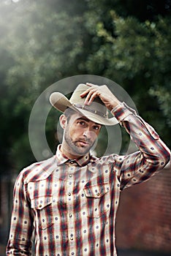
[{"label": "red, cream and navy plaid western shirt worn by the man", "polygon": [[133,154],[69,160],[61,154],[20,172],[14,189],[7,255],[110,256],[122,189],[161,170],[170,151],[159,135],[125,105],[112,110],[140,148]]}]

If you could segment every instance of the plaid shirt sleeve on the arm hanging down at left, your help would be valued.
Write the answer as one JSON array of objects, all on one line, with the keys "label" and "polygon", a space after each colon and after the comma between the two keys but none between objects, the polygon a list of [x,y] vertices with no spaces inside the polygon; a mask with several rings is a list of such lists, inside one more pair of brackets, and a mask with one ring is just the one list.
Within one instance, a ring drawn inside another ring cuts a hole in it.
[{"label": "plaid shirt sleeve on the arm hanging down at left", "polygon": [[11,226],[6,255],[31,255],[33,217],[21,172],[15,181]]}]

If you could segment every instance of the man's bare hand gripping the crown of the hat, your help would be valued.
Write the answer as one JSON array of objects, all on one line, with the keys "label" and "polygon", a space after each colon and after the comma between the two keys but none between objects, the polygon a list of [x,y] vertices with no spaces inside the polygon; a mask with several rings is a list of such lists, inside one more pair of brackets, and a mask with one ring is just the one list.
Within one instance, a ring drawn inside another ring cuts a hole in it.
[{"label": "man's bare hand gripping the crown of the hat", "polygon": [[85,105],[91,105],[96,97],[99,97],[109,110],[121,103],[107,86],[96,86],[93,83],[86,83],[86,85],[90,88],[80,94],[80,97],[86,97]]}]

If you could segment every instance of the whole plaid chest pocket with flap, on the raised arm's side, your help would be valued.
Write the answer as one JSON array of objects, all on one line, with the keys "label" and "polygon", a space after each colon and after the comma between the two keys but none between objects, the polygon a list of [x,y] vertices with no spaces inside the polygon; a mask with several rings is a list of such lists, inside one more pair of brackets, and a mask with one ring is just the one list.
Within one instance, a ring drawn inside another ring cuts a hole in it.
[{"label": "whole plaid chest pocket with flap, on the raised arm's side", "polygon": [[96,184],[84,187],[86,195],[87,217],[99,218],[110,212],[110,187],[109,184]]}]

